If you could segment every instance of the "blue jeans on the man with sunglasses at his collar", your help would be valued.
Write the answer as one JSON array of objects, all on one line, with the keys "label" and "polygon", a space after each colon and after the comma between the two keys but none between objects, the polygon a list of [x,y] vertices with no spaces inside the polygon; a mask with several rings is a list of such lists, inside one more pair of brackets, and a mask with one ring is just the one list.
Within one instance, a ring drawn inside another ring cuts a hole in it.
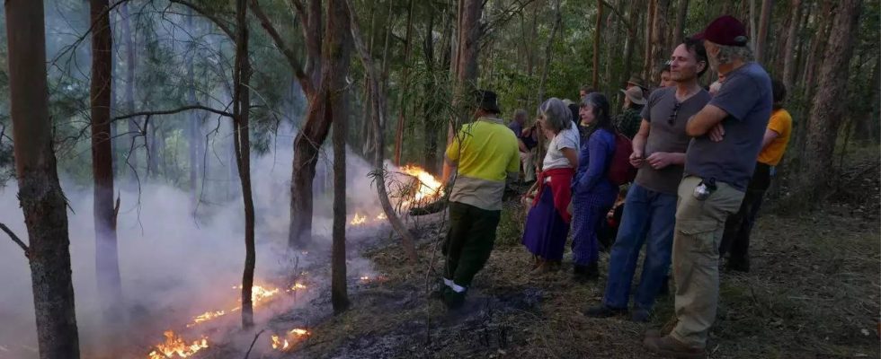
[{"label": "blue jeans on the man with sunglasses at his collar", "polygon": [[676,201],[676,195],[655,192],[637,184],[630,187],[618,227],[618,238],[610,253],[609,280],[606,282],[603,304],[610,308],[627,308],[639,250],[648,240],[634,306],[645,311],[652,310],[654,297],[664,285],[670,268]]}]

